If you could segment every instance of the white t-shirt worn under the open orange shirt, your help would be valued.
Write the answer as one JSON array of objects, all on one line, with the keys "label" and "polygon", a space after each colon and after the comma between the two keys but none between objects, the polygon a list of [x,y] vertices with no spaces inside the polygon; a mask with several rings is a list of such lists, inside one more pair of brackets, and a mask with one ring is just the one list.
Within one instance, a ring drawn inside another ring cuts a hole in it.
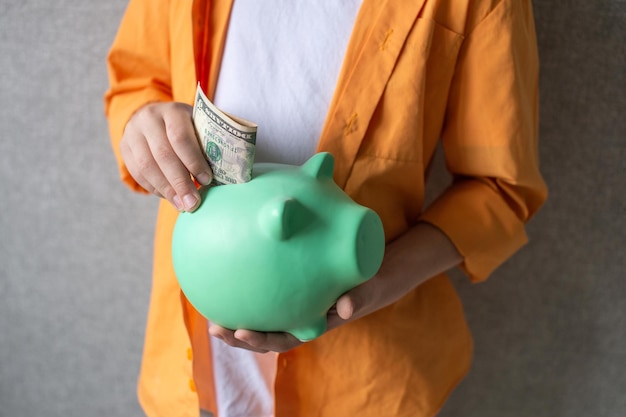
[{"label": "white t-shirt worn under the open orange shirt", "polygon": [[[360,4],[234,2],[213,102],[258,124],[255,161],[315,153]],[[273,416],[275,355],[211,346],[219,416]]]}]

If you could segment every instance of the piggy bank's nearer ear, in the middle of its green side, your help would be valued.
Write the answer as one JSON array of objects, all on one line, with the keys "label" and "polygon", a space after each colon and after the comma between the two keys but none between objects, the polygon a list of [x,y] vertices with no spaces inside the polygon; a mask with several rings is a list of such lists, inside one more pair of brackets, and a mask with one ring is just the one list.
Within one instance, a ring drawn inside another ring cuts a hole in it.
[{"label": "piggy bank's nearer ear, in the middle of its green side", "polygon": [[313,217],[297,199],[276,198],[265,204],[259,213],[259,223],[272,239],[287,240],[310,223]]}]

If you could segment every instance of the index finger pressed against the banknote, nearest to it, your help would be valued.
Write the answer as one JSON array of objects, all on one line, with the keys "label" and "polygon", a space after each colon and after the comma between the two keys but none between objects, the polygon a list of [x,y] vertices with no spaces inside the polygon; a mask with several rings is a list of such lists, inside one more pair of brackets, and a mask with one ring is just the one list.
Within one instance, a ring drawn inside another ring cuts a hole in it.
[{"label": "index finger pressed against the banknote, nearest to it", "polygon": [[209,184],[213,172],[204,158],[191,119],[191,106],[172,103],[173,111],[164,113],[165,131],[172,149],[187,171],[202,185]]}]

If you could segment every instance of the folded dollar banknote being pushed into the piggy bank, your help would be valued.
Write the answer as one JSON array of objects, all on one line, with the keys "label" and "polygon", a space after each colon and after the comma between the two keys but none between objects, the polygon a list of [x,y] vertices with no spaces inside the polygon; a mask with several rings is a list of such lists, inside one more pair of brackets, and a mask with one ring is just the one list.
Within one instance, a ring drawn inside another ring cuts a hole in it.
[{"label": "folded dollar banknote being pushed into the piggy bank", "polygon": [[216,185],[252,179],[257,125],[222,112],[196,89],[193,123]]}]

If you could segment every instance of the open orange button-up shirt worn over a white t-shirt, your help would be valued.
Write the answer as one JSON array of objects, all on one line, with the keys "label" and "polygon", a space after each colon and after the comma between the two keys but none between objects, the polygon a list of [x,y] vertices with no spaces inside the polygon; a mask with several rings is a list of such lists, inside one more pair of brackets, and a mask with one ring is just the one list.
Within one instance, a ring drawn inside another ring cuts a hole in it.
[{"label": "open orange button-up shirt worn over a white t-shirt", "polygon": [[[105,97],[119,141],[152,101],[212,96],[231,1],[131,0],[108,57]],[[546,198],[538,170],[538,62],[530,0],[364,0],[318,150],[335,180],[383,220],[388,241],[439,227],[481,281],[526,242]],[[453,184],[423,209],[441,140]],[[160,205],[139,399],[151,417],[214,411],[207,323],[181,295]],[[472,341],[448,278],[278,356],[276,417],[432,416],[467,373]]]}]

